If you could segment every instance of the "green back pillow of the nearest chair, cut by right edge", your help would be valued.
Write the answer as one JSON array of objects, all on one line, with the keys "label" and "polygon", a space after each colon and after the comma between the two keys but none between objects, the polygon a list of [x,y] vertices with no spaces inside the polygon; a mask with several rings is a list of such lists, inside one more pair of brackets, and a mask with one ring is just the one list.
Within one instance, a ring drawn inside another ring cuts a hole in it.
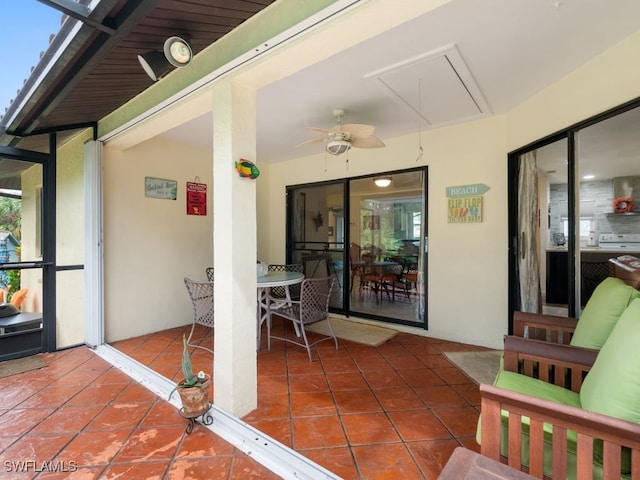
[{"label": "green back pillow of the nearest chair, cut by right edge", "polygon": [[640,423],[640,299],[624,311],[580,389],[585,410]]}]

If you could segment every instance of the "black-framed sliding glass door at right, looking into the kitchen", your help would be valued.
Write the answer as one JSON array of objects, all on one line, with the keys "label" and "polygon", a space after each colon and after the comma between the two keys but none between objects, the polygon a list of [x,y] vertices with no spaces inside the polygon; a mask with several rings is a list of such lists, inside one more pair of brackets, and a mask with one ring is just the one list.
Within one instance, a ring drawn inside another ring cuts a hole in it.
[{"label": "black-framed sliding glass door at right, looking into the kitchen", "polygon": [[[512,310],[577,317],[595,288],[615,274],[612,259],[640,257],[640,108],[603,117],[510,156]],[[535,177],[522,175],[529,162]],[[527,182],[535,188],[523,196]],[[628,211],[616,211],[619,199],[630,200]],[[536,204],[539,228],[527,235],[520,212]],[[522,280],[522,256],[536,254],[539,287]],[[530,307],[537,288],[542,304]]]}]

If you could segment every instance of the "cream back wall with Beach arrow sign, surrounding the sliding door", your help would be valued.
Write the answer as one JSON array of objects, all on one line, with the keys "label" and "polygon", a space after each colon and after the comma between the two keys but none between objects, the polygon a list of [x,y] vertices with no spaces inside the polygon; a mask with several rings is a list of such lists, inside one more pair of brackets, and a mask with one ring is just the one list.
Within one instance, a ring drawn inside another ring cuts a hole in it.
[{"label": "cream back wall with Beach arrow sign, surrounding the sliding door", "polygon": [[[284,192],[287,185],[426,164],[429,167],[427,290],[432,299],[428,304],[427,333],[436,338],[499,348],[507,329],[504,139],[505,119],[494,117],[423,133],[425,153],[419,162],[416,134],[385,139],[387,146],[383,149],[353,149],[348,164],[345,155],[328,156],[325,162],[321,153],[272,165],[269,176],[272,195],[259,199],[259,203],[265,201],[270,205],[269,258],[284,260],[285,202],[279,192]],[[446,187],[477,183],[490,187],[484,195],[483,222],[448,224]],[[487,281],[487,276],[491,281]],[[416,329],[416,333],[420,332]]]}]

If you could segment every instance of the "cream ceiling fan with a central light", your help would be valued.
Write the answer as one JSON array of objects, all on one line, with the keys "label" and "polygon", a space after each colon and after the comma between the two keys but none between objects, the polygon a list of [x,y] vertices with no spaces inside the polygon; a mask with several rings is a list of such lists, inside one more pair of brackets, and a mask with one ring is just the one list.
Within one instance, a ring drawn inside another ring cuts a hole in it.
[{"label": "cream ceiling fan with a central light", "polygon": [[312,133],[324,135],[323,138],[312,138],[306,142],[302,142],[298,147],[303,145],[311,145],[314,143],[324,143],[327,145],[325,150],[331,155],[340,155],[354,148],[380,148],[384,147],[384,142],[376,137],[376,127],[373,125],[363,125],[361,123],[342,123],[344,109],[334,108],[333,116],[336,117],[338,123],[335,127],[328,130],[326,128],[306,127]]}]

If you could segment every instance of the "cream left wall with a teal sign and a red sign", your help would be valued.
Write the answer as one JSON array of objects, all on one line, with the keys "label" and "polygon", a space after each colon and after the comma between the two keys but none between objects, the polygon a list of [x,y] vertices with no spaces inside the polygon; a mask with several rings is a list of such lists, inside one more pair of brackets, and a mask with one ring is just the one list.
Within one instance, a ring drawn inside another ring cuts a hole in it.
[{"label": "cream left wall with a teal sign and a red sign", "polygon": [[[152,138],[106,146],[105,339],[113,342],[192,322],[184,277],[213,265],[211,150]],[[145,196],[145,177],[175,180],[177,199]],[[207,184],[207,215],[187,215],[186,182]]]}]

